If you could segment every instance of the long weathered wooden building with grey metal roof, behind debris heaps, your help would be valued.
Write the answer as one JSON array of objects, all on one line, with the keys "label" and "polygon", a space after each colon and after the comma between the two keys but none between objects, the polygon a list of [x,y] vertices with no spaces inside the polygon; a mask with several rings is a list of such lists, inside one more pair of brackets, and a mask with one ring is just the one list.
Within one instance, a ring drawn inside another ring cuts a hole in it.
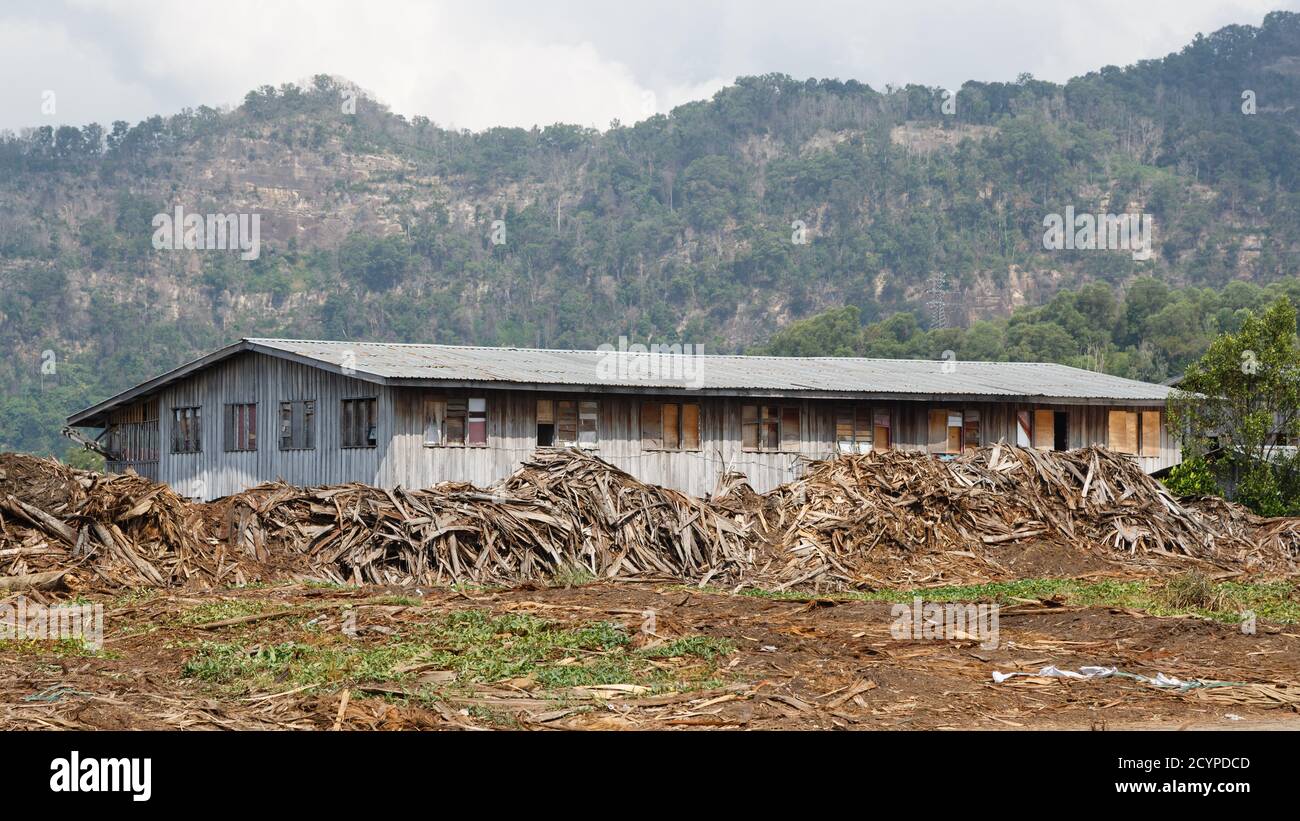
[{"label": "long weathered wooden building with grey metal roof, behind debris heaps", "polygon": [[216,499],[260,482],[488,485],[580,447],[689,494],[766,491],[803,457],[998,440],[1178,461],[1170,388],[1063,365],[242,339],[69,417],[133,468]]}]

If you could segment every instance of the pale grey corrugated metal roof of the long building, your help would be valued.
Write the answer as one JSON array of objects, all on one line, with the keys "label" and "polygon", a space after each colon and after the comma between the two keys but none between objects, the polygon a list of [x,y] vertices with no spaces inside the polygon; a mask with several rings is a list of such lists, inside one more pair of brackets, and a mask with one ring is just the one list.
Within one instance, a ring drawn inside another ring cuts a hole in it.
[{"label": "pale grey corrugated metal roof of the long building", "polygon": [[1050,362],[672,355],[248,339],[385,381],[1164,401],[1170,388]]}]

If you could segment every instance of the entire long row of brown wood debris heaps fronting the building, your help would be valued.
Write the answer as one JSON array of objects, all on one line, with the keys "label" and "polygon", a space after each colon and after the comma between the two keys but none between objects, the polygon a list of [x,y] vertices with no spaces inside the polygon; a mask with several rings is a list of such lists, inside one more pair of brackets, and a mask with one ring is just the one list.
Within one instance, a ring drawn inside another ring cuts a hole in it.
[{"label": "entire long row of brown wood debris heaps fronting the building", "polygon": [[135,474],[0,455],[0,590],[48,586],[73,569],[113,586],[594,577],[859,587],[881,583],[880,562],[904,569],[892,579],[949,578],[942,568],[961,561],[1009,574],[1000,560],[1024,546],[1295,572],[1300,520],[1180,501],[1105,448],[844,455],[766,495],[728,474],[707,500],[590,453],[538,451],[488,488],[269,483],[208,504]]}]

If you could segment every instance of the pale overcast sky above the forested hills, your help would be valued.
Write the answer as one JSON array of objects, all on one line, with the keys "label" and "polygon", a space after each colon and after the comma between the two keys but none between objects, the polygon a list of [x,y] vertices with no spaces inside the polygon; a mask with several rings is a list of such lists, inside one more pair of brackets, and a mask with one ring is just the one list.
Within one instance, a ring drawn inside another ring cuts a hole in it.
[{"label": "pale overcast sky above the forested hills", "polygon": [[[238,104],[346,77],[447,126],[606,127],[741,74],[1065,81],[1300,0],[0,0],[0,129]],[[42,108],[53,91],[53,114]]]}]

